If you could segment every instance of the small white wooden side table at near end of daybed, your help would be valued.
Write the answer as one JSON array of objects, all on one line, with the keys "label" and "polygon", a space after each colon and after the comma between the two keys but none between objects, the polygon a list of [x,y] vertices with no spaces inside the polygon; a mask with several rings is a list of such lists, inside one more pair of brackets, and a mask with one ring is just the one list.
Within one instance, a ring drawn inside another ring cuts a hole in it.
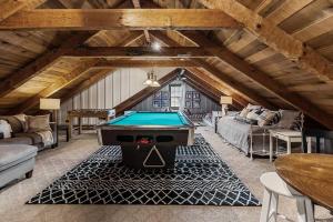
[{"label": "small white wooden side table at near end of daybed", "polygon": [[302,133],[300,131],[284,129],[270,130],[270,162],[273,161],[273,138],[286,142],[286,154],[291,154],[291,144],[293,142],[302,142]]}]

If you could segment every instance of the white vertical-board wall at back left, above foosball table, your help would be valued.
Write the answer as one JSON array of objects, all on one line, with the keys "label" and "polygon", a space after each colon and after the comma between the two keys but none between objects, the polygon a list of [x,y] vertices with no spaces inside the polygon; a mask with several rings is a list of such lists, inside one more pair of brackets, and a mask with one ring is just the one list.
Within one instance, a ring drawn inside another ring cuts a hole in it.
[{"label": "white vertical-board wall at back left, above foosball table", "polygon": [[[67,112],[73,109],[112,109],[130,97],[141,91],[150,69],[119,69],[110,72],[108,77],[94,83],[87,90],[61,104],[59,120],[64,123]],[[171,72],[171,68],[154,69],[158,79]],[[77,122],[75,122],[77,123]],[[83,124],[95,124],[97,119],[84,118]]]}]

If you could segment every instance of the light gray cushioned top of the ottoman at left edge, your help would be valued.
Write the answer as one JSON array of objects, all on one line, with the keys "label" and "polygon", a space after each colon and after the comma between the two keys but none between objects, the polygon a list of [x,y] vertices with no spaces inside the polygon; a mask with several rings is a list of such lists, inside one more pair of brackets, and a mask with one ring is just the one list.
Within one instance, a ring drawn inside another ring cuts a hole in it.
[{"label": "light gray cushioned top of the ottoman at left edge", "polygon": [[37,155],[37,148],[32,145],[0,145],[0,171],[19,164]]}]

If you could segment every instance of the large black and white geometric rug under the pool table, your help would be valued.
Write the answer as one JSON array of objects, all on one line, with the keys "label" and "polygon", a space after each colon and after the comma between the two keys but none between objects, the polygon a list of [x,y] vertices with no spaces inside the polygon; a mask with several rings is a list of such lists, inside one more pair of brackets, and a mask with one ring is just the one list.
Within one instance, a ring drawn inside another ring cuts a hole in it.
[{"label": "large black and white geometric rug under the pool table", "polygon": [[27,203],[260,205],[201,134],[167,170],[129,169],[120,147],[102,147]]}]

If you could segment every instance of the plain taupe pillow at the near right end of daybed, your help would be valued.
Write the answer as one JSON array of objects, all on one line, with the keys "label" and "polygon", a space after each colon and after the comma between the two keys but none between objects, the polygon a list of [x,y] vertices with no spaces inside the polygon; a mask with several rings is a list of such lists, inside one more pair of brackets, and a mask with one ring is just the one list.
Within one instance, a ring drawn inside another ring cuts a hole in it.
[{"label": "plain taupe pillow at the near right end of daybed", "polygon": [[278,123],[282,129],[296,129],[301,125],[301,112],[294,110],[279,110],[281,120]]}]

